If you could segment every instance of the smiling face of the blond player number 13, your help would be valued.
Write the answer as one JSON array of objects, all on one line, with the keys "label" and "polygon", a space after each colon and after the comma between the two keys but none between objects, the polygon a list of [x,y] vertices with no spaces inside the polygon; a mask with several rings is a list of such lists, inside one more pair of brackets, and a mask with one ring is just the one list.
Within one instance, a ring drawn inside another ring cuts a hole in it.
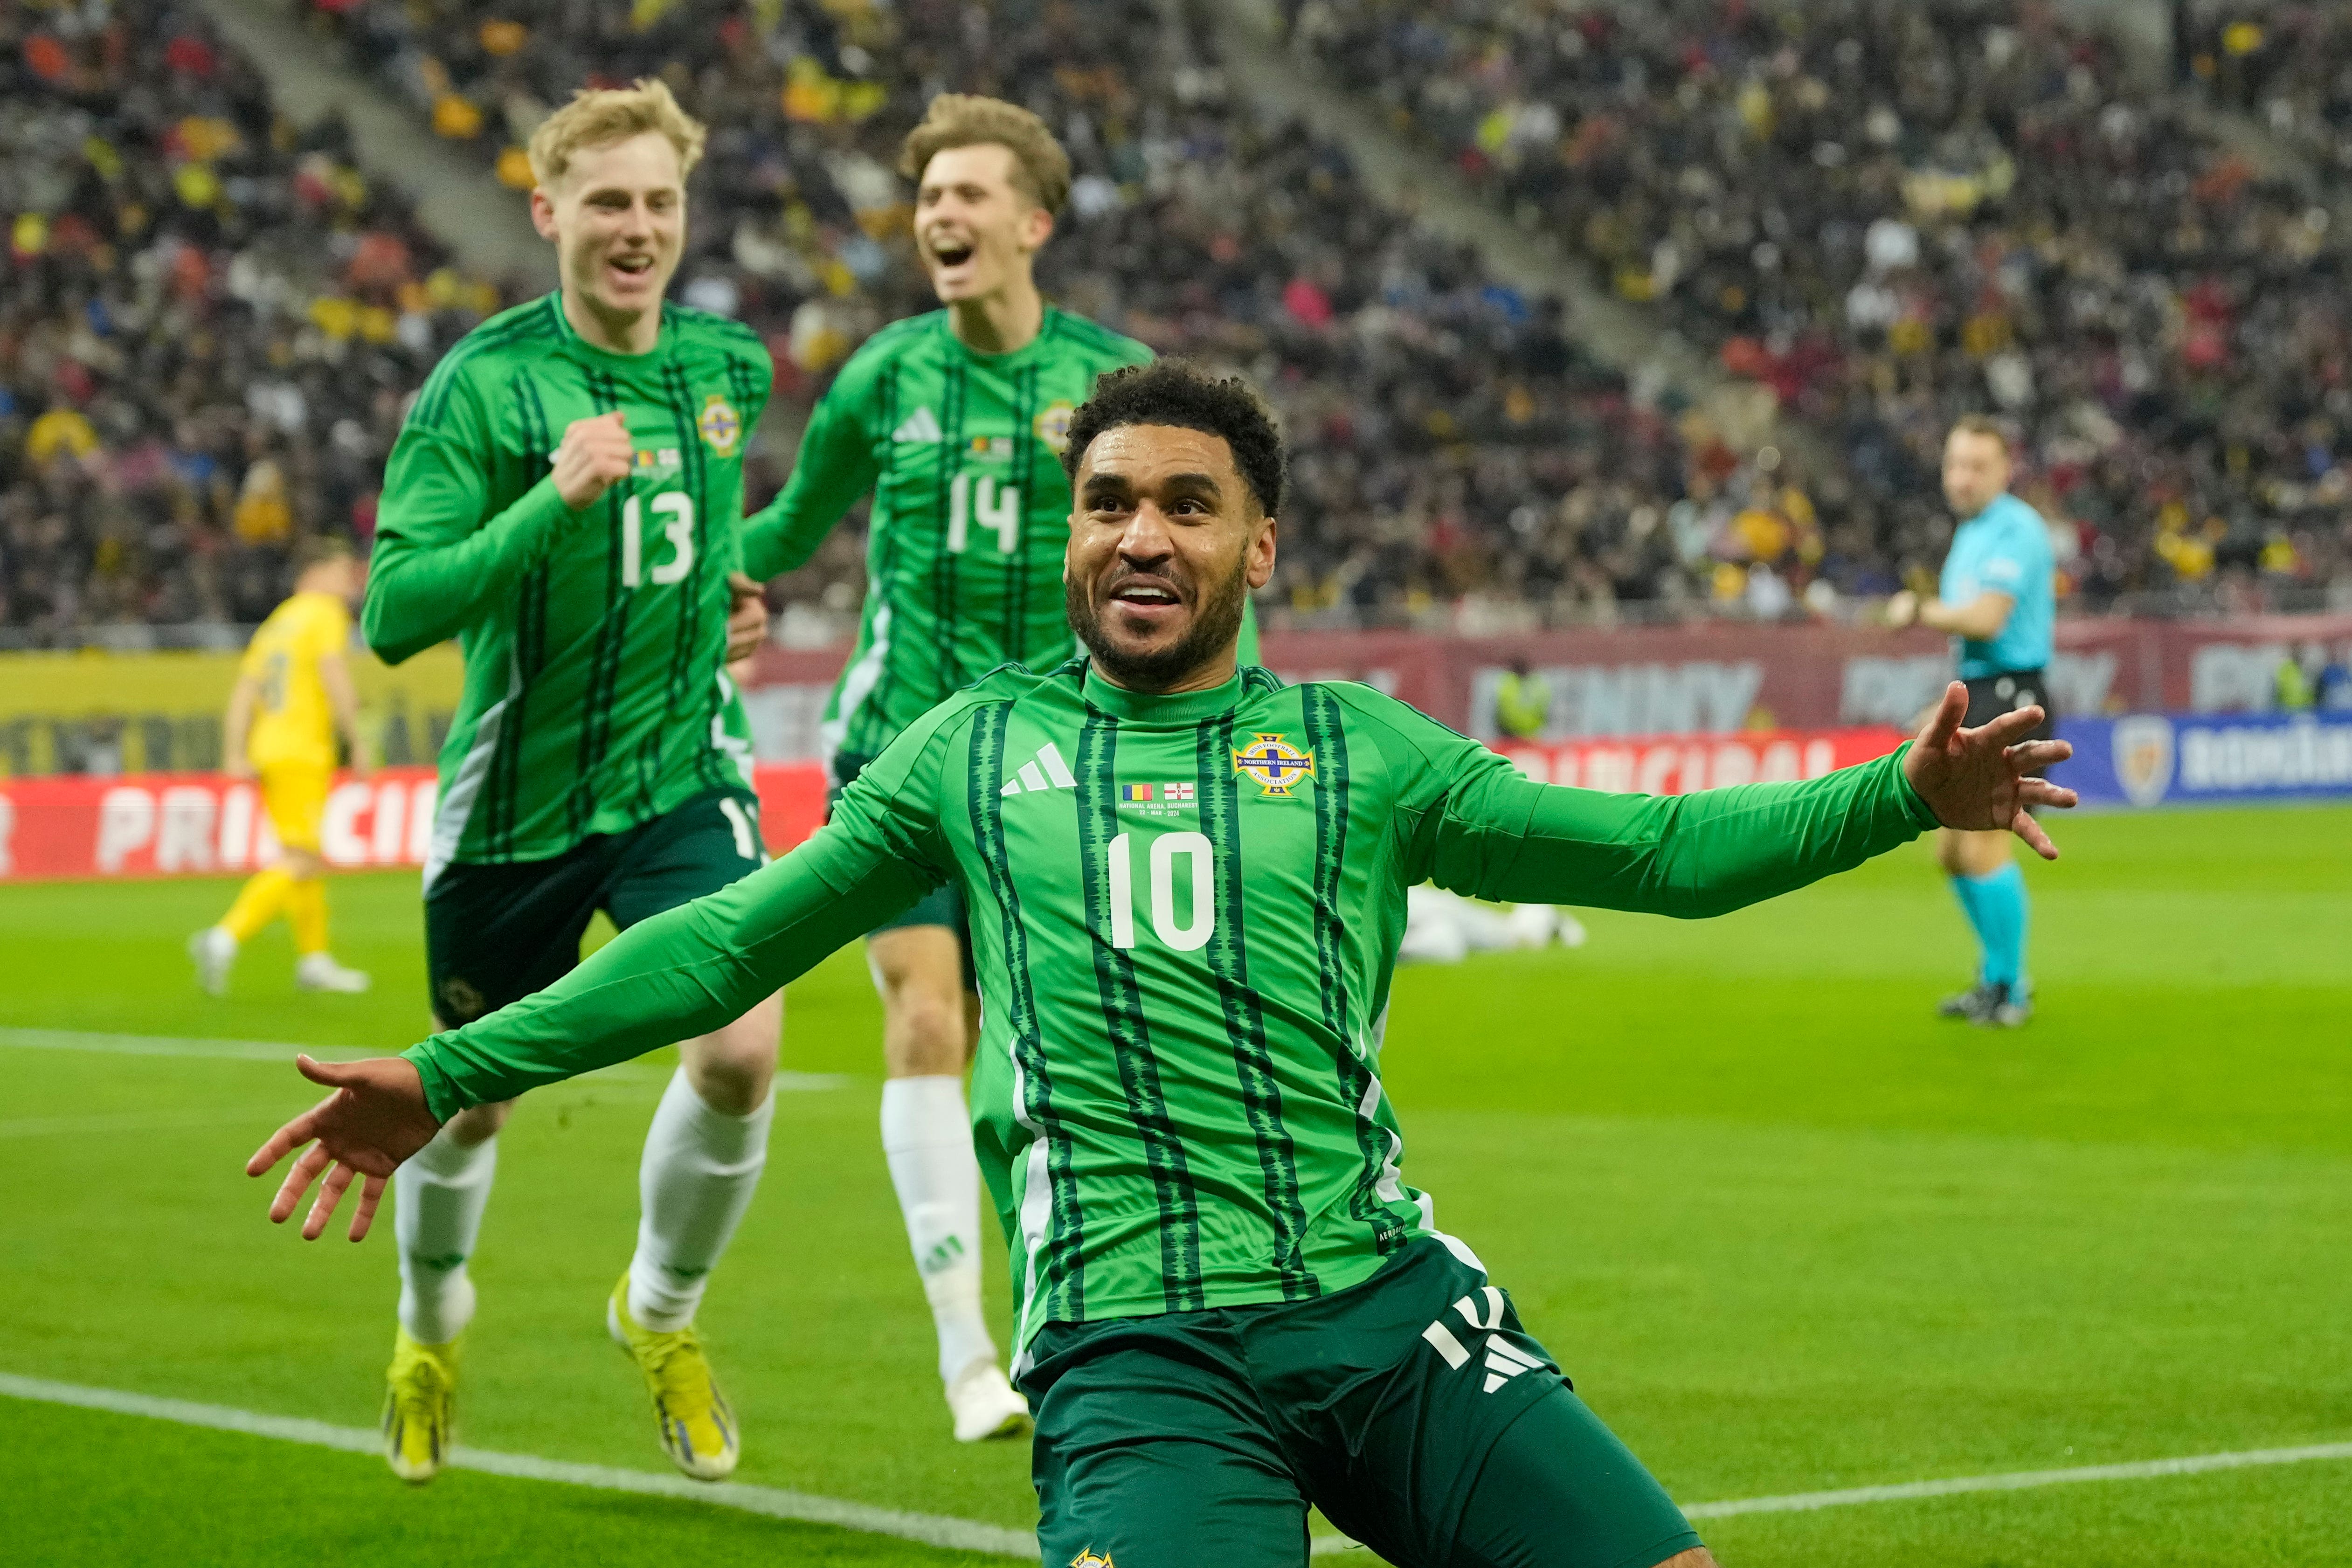
[{"label": "smiling face of the blond player number 13", "polygon": [[659,132],[581,148],[553,193],[532,193],[532,221],[555,240],[564,294],[612,322],[659,310],[687,240],[677,148]]}]

